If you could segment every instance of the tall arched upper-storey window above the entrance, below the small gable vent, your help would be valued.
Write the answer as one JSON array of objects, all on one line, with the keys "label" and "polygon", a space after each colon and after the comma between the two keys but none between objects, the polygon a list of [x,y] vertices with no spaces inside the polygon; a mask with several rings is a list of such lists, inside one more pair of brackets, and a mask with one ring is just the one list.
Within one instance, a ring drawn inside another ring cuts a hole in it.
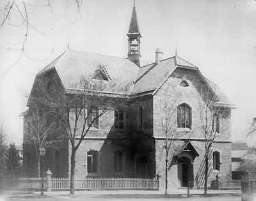
[{"label": "tall arched upper-storey window above the entrance, below the small gable vent", "polygon": [[190,128],[192,127],[192,110],[189,105],[182,103],[177,108],[177,122],[178,128]]}]

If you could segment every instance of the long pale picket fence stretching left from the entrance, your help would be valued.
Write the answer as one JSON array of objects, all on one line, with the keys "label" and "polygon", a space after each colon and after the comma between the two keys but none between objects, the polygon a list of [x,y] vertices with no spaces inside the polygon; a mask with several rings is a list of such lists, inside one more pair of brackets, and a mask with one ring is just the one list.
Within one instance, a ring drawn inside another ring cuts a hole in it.
[{"label": "long pale picket fence stretching left from the entrance", "polygon": [[[75,190],[159,190],[158,179],[100,178],[75,179]],[[0,190],[41,190],[42,178],[0,179]],[[68,178],[44,178],[45,191],[70,190]]]}]

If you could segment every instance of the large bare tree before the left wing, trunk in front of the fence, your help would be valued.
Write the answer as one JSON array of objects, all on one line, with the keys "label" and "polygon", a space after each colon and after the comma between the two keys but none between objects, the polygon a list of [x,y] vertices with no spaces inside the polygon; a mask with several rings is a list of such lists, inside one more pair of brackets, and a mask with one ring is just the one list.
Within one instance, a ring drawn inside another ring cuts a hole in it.
[{"label": "large bare tree before the left wing, trunk in front of the fence", "polygon": [[69,88],[64,88],[60,78],[49,72],[36,77],[29,107],[42,108],[55,114],[60,120],[71,148],[70,195],[74,195],[76,151],[91,128],[99,128],[99,118],[108,111],[126,107],[127,95],[116,93],[125,91],[126,86],[117,85],[116,80],[96,80],[81,77],[70,80]]}]

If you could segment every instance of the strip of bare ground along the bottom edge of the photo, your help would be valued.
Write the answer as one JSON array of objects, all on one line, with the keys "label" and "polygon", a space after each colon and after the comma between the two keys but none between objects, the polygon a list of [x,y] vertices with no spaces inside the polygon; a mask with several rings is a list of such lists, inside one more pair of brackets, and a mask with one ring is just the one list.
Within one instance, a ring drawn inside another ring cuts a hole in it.
[{"label": "strip of bare ground along the bottom edge of the photo", "polygon": [[240,193],[232,194],[209,194],[206,197],[203,194],[191,194],[188,198],[186,194],[159,194],[152,191],[144,191],[141,193],[132,193],[132,191],[77,191],[74,197],[70,197],[67,191],[63,192],[45,192],[43,196],[40,196],[40,192],[8,192],[4,195],[0,195],[0,201],[8,200],[40,200],[40,201],[110,201],[110,200],[127,200],[127,201],[139,201],[139,200],[220,200],[220,201],[240,201]]}]

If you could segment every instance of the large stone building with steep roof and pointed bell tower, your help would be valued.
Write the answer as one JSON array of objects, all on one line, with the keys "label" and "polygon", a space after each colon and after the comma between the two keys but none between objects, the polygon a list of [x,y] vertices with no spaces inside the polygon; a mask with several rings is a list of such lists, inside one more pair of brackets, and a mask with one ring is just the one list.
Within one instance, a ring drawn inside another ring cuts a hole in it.
[{"label": "large stone building with steep roof and pointed bell tower", "polygon": [[[228,125],[231,123],[230,115],[234,105],[196,66],[177,54],[163,59],[163,51],[157,49],[155,62],[143,64],[140,52],[141,34],[135,7],[127,36],[127,58],[68,49],[36,75],[36,78],[45,75],[49,80],[60,80],[67,93],[72,88],[72,80],[78,80],[82,74],[104,82],[119,79],[120,85],[127,86],[127,90],[121,93],[131,103],[138,101],[137,106],[129,110],[107,112],[97,120],[97,126],[92,126],[76,153],[76,177],[152,178],[157,174],[164,177],[166,137],[163,117],[166,116],[163,108],[170,107],[172,116],[168,120],[172,124],[172,133],[177,137],[170,137],[175,143],[168,158],[168,186],[187,186],[190,181],[191,186],[202,188],[205,138],[200,123],[199,102],[204,101],[201,91],[207,88],[211,90],[211,96],[217,98],[215,106],[225,108],[225,115],[218,116],[218,121],[217,118],[211,121],[211,129],[221,135],[217,135],[212,144],[209,183],[215,178],[216,171],[213,170],[218,170],[221,177],[229,179],[231,142]],[[54,86],[49,88],[51,87]],[[163,105],[166,94],[170,95],[165,102],[168,105]],[[29,119],[31,115],[28,110],[24,114],[24,138],[29,129],[26,123]],[[58,136],[63,130],[58,122],[55,124],[58,126],[55,126],[52,135]],[[24,176],[35,177],[38,174],[35,157],[32,145],[24,143]],[[68,140],[61,142],[57,149],[47,150],[45,164],[52,171],[52,177],[70,176]],[[162,182],[164,184],[164,179]]]}]

